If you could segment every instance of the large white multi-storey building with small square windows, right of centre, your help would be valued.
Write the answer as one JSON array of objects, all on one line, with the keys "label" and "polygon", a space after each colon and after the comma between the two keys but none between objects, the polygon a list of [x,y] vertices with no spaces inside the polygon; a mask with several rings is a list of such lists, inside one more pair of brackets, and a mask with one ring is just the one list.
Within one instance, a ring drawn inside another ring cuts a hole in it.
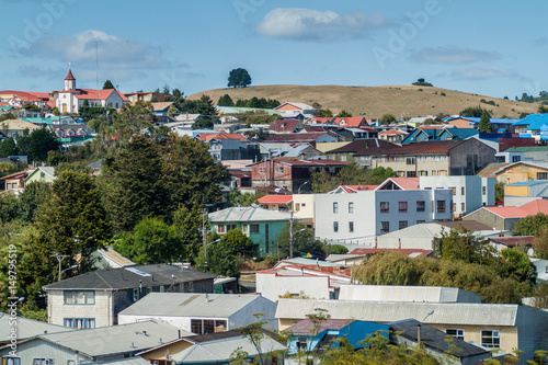
[{"label": "large white multi-storey building with small square windows, right of centre", "polygon": [[373,243],[379,235],[453,218],[453,193],[447,189],[336,192],[315,195],[320,239]]}]

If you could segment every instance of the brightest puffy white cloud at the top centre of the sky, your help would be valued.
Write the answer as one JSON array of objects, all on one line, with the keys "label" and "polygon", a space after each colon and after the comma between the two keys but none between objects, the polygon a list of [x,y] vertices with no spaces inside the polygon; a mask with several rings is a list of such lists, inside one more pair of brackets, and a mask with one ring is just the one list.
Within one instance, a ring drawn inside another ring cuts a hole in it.
[{"label": "brightest puffy white cloud at the top centre of the sky", "polygon": [[310,9],[275,9],[258,24],[259,34],[270,37],[329,42],[341,37],[365,37],[368,30],[390,24],[390,20],[375,13],[338,14],[333,11]]}]

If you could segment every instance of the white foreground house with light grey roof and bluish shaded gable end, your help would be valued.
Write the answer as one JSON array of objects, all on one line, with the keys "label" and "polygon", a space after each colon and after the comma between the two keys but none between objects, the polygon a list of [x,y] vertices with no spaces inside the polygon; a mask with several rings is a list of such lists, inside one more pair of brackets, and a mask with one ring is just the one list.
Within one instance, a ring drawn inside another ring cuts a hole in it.
[{"label": "white foreground house with light grey roof and bluish shaded gable end", "polygon": [[118,313],[119,323],[163,320],[195,334],[229,331],[258,319],[276,328],[276,304],[260,295],[151,293]]}]

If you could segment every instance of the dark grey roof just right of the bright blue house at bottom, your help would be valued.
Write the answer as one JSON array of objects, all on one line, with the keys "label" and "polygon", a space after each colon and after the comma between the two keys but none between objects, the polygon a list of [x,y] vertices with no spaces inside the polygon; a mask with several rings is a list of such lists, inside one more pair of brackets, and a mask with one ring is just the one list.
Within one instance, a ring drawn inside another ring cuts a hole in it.
[{"label": "dark grey roof just right of the bright blue house at bottom", "polygon": [[[400,335],[408,338],[412,341],[418,341],[418,324],[415,319],[402,320],[395,323],[389,323],[392,331],[402,332]],[[441,353],[449,351],[449,343],[446,341],[447,334],[427,324],[421,326],[421,342],[427,347],[434,349]],[[453,339],[452,345],[456,346],[458,351],[453,352],[454,356],[459,358],[486,354],[489,351],[467,343],[463,340]]]}]

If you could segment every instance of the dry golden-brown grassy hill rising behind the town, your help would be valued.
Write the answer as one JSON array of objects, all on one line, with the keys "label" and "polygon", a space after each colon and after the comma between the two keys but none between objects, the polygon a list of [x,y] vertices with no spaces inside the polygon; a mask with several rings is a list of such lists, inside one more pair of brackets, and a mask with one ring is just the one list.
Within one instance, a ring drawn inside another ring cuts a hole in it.
[{"label": "dry golden-brown grassy hill rising behind the town", "polygon": [[[511,118],[517,118],[522,112],[536,113],[538,109],[538,104],[441,88],[415,85],[304,87],[277,84],[244,89],[213,89],[192,94],[189,99],[199,99],[203,94],[209,95],[215,103],[224,94],[229,94],[235,102],[238,99],[251,99],[253,96],[276,99],[282,103],[286,101],[306,104],[317,102],[322,109],[329,109],[333,113],[346,110],[353,116],[364,115],[368,118],[379,118],[386,113],[391,113],[399,118],[437,115],[439,113],[455,115],[467,106],[481,106],[491,110],[494,117],[505,115]],[[481,103],[481,99],[484,99],[487,102],[493,101],[495,105]]]}]

